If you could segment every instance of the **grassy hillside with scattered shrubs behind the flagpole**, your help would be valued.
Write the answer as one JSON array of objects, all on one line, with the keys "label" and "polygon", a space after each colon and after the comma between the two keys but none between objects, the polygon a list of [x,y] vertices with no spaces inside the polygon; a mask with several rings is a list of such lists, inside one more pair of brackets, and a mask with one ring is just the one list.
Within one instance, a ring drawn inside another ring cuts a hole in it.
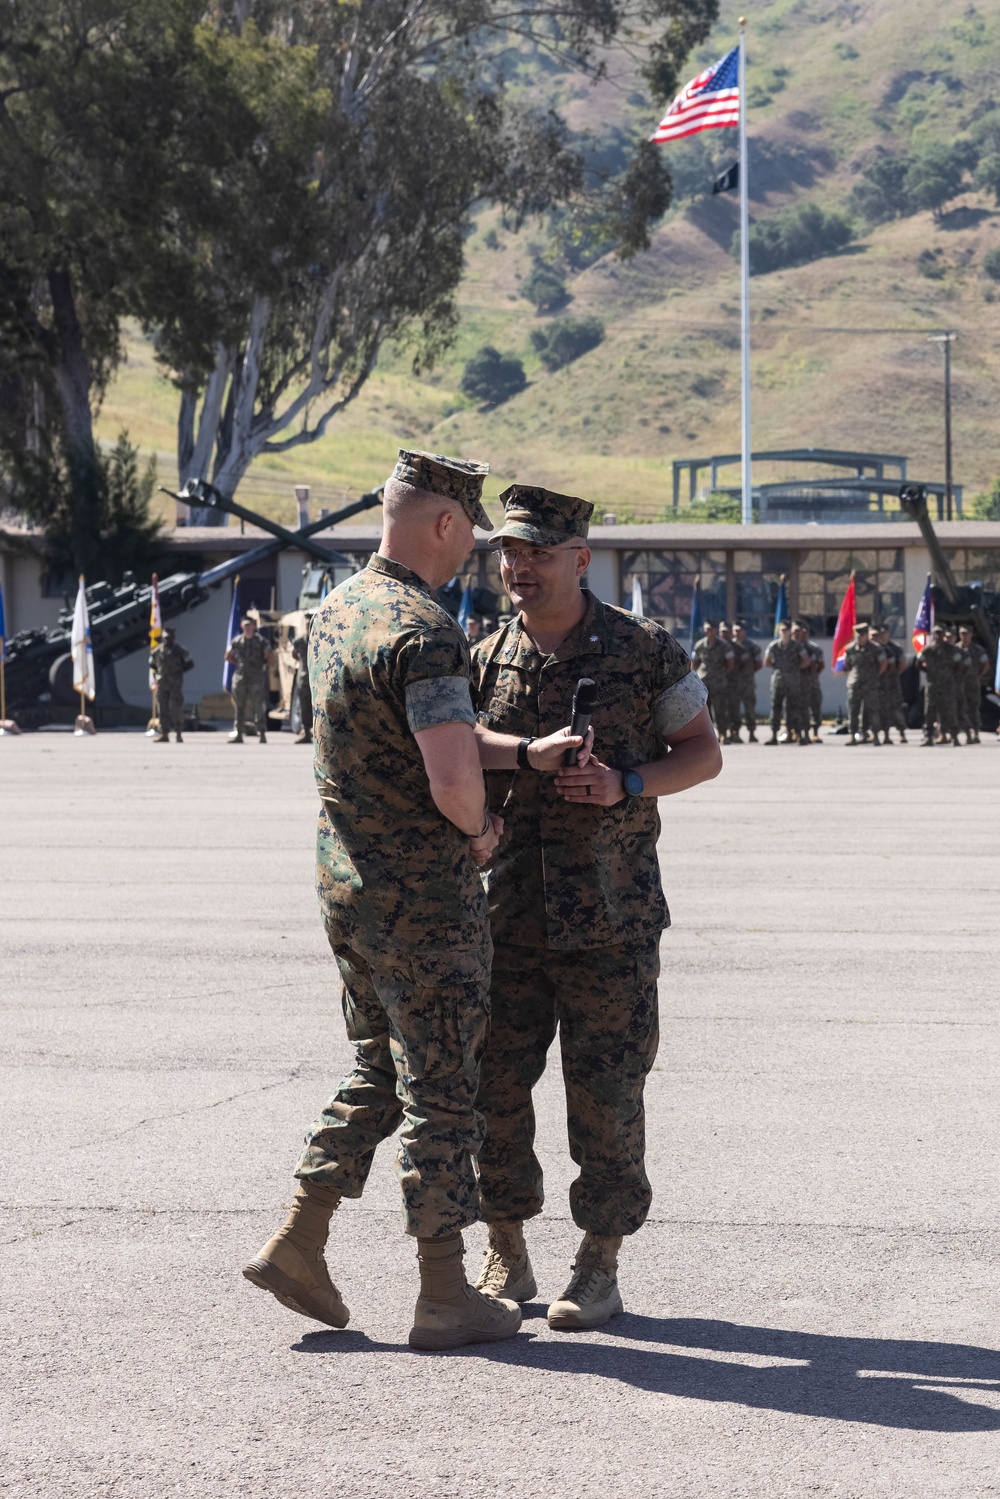
[{"label": "grassy hillside with scattered shrubs behind the flagpole", "polygon": [[[726,3],[691,72],[735,37]],[[792,201],[844,207],[879,150],[949,141],[1000,102],[1000,12],[930,0],[772,0],[748,31],[751,211],[760,220]],[[657,109],[634,79],[610,69],[597,88],[561,79],[574,123],[594,135]],[[708,145],[708,150],[705,148]],[[711,180],[732,160],[735,130],[664,147],[681,184]],[[604,342],[550,375],[531,345],[547,319],[519,294],[544,226],[504,232],[483,214],[468,240],[462,322],[450,355],[415,379],[390,352],[355,405],[310,448],[267,459],[241,496],[285,517],[291,486],[309,483],[333,508],[381,480],[397,442],[487,457],[496,481],[534,478],[579,490],[636,519],[661,519],[670,460],[739,447],[739,285],[729,253],[732,196],[682,198],[651,249],[628,264],[604,256],[571,276],[573,316],[597,315]],[[753,307],[754,445],[816,445],[906,453],[916,477],[943,474],[942,352],[933,328],[955,328],[955,478],[969,492],[1000,474],[1000,285],[984,255],[1000,246],[993,196],[969,192],[934,222],[918,213],[865,229],[846,250],[756,276]],[[891,331],[880,331],[891,330]],[[465,361],[492,343],[525,363],[528,388],[493,411],[459,394]],[[135,337],[100,415],[160,454],[174,478],[174,400],[151,352]],[[759,478],[784,477],[762,469]],[[736,472],[733,471],[733,481]]]}]

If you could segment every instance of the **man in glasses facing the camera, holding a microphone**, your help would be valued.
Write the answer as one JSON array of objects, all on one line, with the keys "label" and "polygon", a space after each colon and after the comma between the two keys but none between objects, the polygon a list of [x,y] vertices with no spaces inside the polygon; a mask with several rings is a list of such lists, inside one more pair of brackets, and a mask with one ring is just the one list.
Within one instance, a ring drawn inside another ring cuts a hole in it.
[{"label": "man in glasses facing the camera, holding a microphone", "polygon": [[[504,818],[486,875],[495,953],[478,1100],[489,1223],[478,1286],[514,1301],[537,1291],[523,1237],[543,1204],[531,1093],[558,1027],[580,1168],[570,1208],[583,1240],[549,1325],[597,1327],[622,1310],[618,1250],[651,1201],[643,1087],[670,920],[657,797],[717,775],[723,755],[705,687],[678,642],[580,588],[594,507],[523,484],[501,499],[504,526],[490,541],[519,613],[472,658],[480,757],[490,809]],[[597,684],[597,754],[550,775],[540,751],[565,723],[580,678]]]}]

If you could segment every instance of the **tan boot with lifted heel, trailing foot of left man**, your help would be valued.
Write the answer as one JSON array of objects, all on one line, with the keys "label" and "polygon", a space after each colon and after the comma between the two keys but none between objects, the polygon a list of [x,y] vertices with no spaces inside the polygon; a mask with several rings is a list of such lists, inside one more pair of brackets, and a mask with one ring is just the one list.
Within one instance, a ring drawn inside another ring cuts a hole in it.
[{"label": "tan boot with lifted heel, trailing foot of left man", "polygon": [[300,1181],[288,1219],[243,1270],[250,1285],[270,1291],[289,1312],[327,1327],[346,1327],[351,1319],[322,1258],[339,1202],[336,1187]]}]

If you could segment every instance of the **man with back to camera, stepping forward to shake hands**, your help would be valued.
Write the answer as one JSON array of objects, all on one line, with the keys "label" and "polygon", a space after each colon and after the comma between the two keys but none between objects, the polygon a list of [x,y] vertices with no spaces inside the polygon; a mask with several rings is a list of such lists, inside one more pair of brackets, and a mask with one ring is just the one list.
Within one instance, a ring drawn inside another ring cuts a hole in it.
[{"label": "man with back to camera, stepping forward to shake hands", "polygon": [[[379,552],[313,619],[318,892],[357,1060],[306,1136],[289,1219],[243,1271],[291,1310],[346,1327],[324,1261],[330,1219],[340,1198],[361,1196],[378,1144],[402,1123],[403,1226],[420,1264],[409,1342],[424,1349],[520,1325],[514,1301],[480,1295],[462,1268],[462,1229],[480,1211],[475,1094],[489,1030],[478,866],[502,821],[486,811],[469,648],[435,598],[472,552],[474,526],[490,525],[487,472],[400,451]],[[568,745],[580,739],[556,736],[549,760]]]}]

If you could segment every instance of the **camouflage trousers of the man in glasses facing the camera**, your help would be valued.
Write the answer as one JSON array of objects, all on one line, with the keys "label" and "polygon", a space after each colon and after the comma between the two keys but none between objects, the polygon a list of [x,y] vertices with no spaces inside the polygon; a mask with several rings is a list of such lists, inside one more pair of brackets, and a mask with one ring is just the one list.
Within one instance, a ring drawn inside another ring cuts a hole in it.
[{"label": "camouflage trousers of the man in glasses facing the camera", "polygon": [[559,1030],[577,1228],[615,1237],[642,1228],[652,1201],[646,1177],[643,1087],[660,1040],[660,943],[558,952],[498,946],[490,983],[490,1045],[478,1106],[483,1219],[541,1213],[531,1091]]}]

